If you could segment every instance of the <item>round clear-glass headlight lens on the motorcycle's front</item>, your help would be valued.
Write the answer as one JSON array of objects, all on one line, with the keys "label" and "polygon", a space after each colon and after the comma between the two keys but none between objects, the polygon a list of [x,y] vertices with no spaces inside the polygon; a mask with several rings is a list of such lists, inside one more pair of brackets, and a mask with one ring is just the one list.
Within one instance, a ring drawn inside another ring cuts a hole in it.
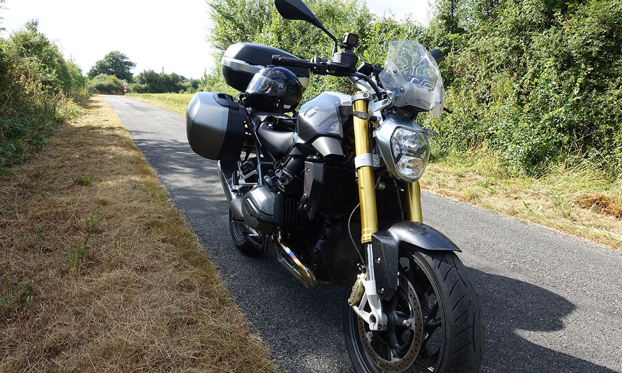
[{"label": "round clear-glass headlight lens on the motorcycle's front", "polygon": [[425,132],[397,127],[391,135],[391,154],[399,176],[414,182],[424,173],[430,159],[430,143]]}]

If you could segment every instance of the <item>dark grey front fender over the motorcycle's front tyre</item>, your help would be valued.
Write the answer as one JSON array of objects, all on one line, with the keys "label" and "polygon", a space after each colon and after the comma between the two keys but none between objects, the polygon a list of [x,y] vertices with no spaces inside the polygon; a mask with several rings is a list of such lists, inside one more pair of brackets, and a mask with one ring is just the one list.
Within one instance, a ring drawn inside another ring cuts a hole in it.
[{"label": "dark grey front fender over the motorcycle's front tyre", "polygon": [[459,251],[447,236],[423,223],[398,221],[388,229],[371,235],[374,256],[374,276],[378,296],[390,300],[397,291],[397,262],[399,247],[412,251]]}]

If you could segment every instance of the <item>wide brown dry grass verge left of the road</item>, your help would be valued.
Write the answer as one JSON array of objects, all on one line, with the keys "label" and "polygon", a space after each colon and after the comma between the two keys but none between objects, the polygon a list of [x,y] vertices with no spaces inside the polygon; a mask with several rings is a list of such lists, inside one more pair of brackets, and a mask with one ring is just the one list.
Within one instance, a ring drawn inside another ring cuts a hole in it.
[{"label": "wide brown dry grass verge left of the road", "polygon": [[272,372],[101,98],[0,178],[1,372]]}]

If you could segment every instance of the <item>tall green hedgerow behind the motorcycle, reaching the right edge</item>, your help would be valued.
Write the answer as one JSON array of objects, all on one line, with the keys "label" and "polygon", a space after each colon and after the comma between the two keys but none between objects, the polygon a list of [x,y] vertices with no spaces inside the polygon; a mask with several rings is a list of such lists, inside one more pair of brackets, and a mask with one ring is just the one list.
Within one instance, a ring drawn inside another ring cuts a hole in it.
[{"label": "tall green hedgerow behind the motorcycle, reaching the right edge", "polygon": [[[590,159],[622,175],[622,0],[436,0],[429,26],[373,16],[353,0],[308,0],[328,30],[359,34],[361,60],[383,65],[388,42],[414,39],[447,53],[441,66],[454,114],[419,121],[439,130],[437,155],[491,152],[510,170],[539,175]],[[272,45],[301,58],[330,56],[330,40],[279,16],[270,0],[209,0],[220,60],[235,42]],[[261,14],[248,22],[246,12]],[[203,83],[229,91],[216,65]],[[312,76],[305,99],[352,91]]]}]

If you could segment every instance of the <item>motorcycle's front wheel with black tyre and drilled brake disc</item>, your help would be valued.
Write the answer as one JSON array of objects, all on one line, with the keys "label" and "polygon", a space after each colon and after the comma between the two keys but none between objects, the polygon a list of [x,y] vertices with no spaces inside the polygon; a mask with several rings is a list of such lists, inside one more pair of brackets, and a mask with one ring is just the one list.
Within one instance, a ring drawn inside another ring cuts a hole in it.
[{"label": "motorcycle's front wheel with black tyre and drilled brake disc", "polygon": [[382,302],[385,331],[370,331],[345,302],[343,331],[356,373],[478,372],[483,318],[460,259],[453,252],[400,249],[398,270],[396,295]]}]

